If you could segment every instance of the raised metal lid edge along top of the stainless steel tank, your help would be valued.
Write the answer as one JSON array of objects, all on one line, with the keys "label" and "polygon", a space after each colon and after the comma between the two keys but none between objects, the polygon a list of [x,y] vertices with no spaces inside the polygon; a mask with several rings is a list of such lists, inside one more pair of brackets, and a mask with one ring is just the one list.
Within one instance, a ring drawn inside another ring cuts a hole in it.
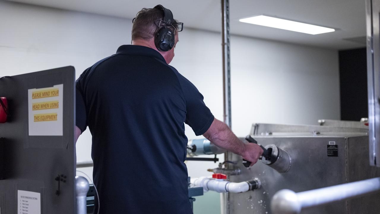
[{"label": "raised metal lid edge along top of the stainless steel tank", "polygon": [[253,123],[251,135],[266,133],[367,133],[368,128],[347,128],[334,126],[318,125],[288,125],[288,124],[269,124]]}]

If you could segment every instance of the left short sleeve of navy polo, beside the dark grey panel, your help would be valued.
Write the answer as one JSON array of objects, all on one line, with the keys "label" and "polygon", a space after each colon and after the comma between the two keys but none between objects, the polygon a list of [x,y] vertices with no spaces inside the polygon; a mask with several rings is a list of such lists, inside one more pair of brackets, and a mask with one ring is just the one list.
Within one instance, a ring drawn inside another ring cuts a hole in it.
[{"label": "left short sleeve of navy polo, beside the dark grey panel", "polygon": [[87,113],[86,113],[86,104],[84,102],[84,93],[81,87],[80,77],[75,82],[76,94],[75,94],[75,105],[76,105],[76,119],[75,124],[81,129],[82,133],[87,128]]}]

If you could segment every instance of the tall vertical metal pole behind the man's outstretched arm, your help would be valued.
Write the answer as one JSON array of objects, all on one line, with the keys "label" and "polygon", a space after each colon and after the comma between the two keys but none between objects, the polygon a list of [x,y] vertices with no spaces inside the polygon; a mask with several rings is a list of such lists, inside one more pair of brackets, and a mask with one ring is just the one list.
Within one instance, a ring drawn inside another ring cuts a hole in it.
[{"label": "tall vertical metal pole behind the man's outstretched arm", "polygon": [[[230,1],[221,0],[222,5],[222,61],[223,61],[223,121],[231,128],[231,67],[230,67]],[[228,159],[225,152],[224,159]],[[227,165],[226,165],[227,167]],[[220,193],[221,214],[230,213],[229,194]]]}]

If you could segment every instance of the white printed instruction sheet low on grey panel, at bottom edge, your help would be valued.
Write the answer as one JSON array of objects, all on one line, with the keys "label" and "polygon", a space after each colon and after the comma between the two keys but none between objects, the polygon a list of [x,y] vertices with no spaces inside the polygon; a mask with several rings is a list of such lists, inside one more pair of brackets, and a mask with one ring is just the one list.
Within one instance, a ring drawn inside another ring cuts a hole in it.
[{"label": "white printed instruction sheet low on grey panel, at bottom edge", "polygon": [[41,194],[17,190],[17,214],[41,214]]}]

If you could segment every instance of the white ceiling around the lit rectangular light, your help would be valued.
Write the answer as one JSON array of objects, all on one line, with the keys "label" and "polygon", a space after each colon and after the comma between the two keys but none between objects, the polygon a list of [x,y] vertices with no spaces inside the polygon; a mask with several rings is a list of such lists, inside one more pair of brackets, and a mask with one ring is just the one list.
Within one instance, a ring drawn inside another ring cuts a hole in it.
[{"label": "white ceiling around the lit rectangular light", "polygon": [[[185,27],[221,30],[220,0],[9,0],[53,8],[132,19],[141,8],[161,4]],[[337,29],[309,35],[241,23],[239,18],[265,14]],[[365,46],[365,0],[230,0],[231,34],[264,38],[335,50]],[[362,37],[362,38],[356,38]],[[347,38],[349,40],[347,40]],[[353,39],[351,39],[353,38]],[[363,43],[364,42],[364,43]]]}]

